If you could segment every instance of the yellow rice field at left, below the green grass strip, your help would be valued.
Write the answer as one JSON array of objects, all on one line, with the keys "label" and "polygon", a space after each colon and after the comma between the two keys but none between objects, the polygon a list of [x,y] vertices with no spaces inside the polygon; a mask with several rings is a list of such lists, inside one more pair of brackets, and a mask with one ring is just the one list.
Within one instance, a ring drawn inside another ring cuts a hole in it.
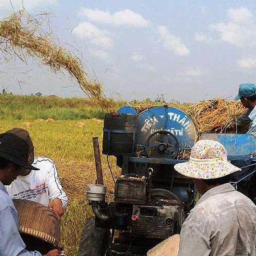
[{"label": "yellow rice field at left, below the green grass strip", "polygon": [[[27,125],[30,124],[30,127]],[[83,124],[83,125],[81,125]],[[79,238],[84,220],[91,215],[86,202],[86,184],[95,183],[96,173],[93,158],[92,137],[102,143],[103,120],[1,120],[0,132],[20,127],[30,132],[35,156],[47,156],[55,161],[62,186],[69,196],[66,213],[62,217],[62,245],[66,255],[78,254]],[[119,170],[114,159],[110,159],[115,178]],[[113,182],[108,171],[107,160],[102,156],[104,182],[108,192]]]}]

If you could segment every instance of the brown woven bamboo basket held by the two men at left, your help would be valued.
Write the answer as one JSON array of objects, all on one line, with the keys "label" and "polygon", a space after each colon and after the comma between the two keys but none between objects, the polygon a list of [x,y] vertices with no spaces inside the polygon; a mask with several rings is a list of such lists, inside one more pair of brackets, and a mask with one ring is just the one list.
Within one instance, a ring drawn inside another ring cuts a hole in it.
[{"label": "brown woven bamboo basket held by the two men at left", "polygon": [[47,253],[61,249],[61,226],[54,212],[37,202],[13,199],[19,215],[19,231],[27,250]]}]

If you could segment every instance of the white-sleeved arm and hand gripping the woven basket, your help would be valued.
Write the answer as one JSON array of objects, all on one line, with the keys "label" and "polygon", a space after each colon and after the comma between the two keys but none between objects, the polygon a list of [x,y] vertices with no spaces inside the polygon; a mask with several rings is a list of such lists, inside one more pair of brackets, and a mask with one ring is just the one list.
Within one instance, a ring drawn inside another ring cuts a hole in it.
[{"label": "white-sleeved arm and hand gripping the woven basket", "polygon": [[52,166],[50,167],[50,173],[48,178],[48,190],[49,190],[49,208],[52,208],[58,218],[61,218],[64,213],[64,209],[67,207],[67,195],[62,189],[57,169],[54,161],[51,160]]}]

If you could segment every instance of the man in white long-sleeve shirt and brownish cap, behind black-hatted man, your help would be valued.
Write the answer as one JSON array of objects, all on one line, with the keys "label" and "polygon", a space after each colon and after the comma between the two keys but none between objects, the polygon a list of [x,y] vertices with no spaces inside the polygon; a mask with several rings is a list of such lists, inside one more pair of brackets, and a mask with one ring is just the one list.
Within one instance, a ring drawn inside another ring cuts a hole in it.
[{"label": "man in white long-sleeve shirt and brownish cap, behind black-hatted man", "polygon": [[26,199],[44,204],[54,211],[58,219],[61,219],[67,206],[67,195],[62,189],[54,161],[41,156],[34,158],[32,139],[27,131],[14,128],[6,133],[15,134],[26,142],[30,150],[29,163],[40,169],[35,172],[23,168],[16,180],[6,186],[8,194],[14,199]]}]

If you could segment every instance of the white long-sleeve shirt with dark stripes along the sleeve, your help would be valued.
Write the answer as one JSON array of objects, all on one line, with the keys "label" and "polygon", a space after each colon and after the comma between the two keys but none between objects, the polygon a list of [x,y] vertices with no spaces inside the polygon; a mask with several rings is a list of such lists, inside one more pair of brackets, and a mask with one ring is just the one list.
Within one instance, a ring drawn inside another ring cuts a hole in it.
[{"label": "white long-sleeve shirt with dark stripes along the sleeve", "polygon": [[11,185],[6,186],[10,197],[39,202],[45,206],[48,206],[51,200],[59,198],[65,209],[67,195],[62,189],[54,161],[38,157],[32,165],[40,170],[32,170],[26,176],[18,176]]}]

